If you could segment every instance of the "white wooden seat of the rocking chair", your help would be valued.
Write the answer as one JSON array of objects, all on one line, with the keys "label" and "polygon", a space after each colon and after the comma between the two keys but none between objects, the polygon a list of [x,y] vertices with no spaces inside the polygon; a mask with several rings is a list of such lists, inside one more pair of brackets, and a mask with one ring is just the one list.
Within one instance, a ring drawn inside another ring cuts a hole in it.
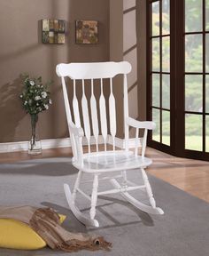
[{"label": "white wooden seat of the rocking chair", "polygon": [[83,172],[112,172],[146,167],[152,163],[150,158],[135,156],[132,151],[116,150],[83,155]]}]

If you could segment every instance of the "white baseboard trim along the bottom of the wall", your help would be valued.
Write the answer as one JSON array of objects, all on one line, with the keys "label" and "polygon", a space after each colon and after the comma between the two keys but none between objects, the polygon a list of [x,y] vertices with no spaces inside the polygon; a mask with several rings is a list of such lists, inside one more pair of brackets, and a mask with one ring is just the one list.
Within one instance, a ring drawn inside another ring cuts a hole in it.
[{"label": "white baseboard trim along the bottom of the wall", "polygon": [[[112,144],[112,137],[108,136],[107,141],[109,144]],[[92,136],[90,138],[90,145],[94,145],[95,143],[96,143],[96,140]],[[103,136],[99,135],[98,144],[103,144],[103,143],[104,143]],[[85,138],[83,140],[83,144],[88,145],[87,140]],[[141,147],[141,139],[129,139],[128,144],[129,144],[129,148],[135,148],[135,145],[137,145],[137,147]],[[125,148],[125,140],[116,137],[115,146],[118,148]],[[67,147],[71,147],[70,138],[42,140],[43,149],[67,148]],[[28,148],[28,141],[0,143],[0,153],[27,151],[27,148]]]}]

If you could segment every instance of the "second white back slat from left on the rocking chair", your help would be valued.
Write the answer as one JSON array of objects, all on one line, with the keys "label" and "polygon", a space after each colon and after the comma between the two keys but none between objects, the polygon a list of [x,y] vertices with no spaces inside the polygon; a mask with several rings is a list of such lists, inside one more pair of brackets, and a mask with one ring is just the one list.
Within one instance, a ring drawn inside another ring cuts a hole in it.
[{"label": "second white back slat from left on the rocking chair", "polygon": [[90,152],[90,123],[89,123],[89,108],[88,101],[85,94],[84,80],[82,79],[82,99],[81,99],[81,107],[82,107],[82,117],[84,124],[84,131],[86,139],[88,140],[88,149]]}]

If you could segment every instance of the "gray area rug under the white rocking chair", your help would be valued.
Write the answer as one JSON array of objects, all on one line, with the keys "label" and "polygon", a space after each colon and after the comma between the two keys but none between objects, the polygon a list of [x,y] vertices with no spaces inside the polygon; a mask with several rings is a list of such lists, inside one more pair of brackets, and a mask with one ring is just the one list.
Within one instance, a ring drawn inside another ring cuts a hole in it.
[{"label": "gray area rug under the white rocking chair", "polygon": [[[140,212],[126,203],[120,195],[101,196],[96,215],[100,228],[87,230],[68,210],[63,190],[64,182],[69,183],[72,188],[76,173],[70,158],[0,164],[0,204],[53,207],[66,214],[63,224],[66,229],[104,236],[107,241],[112,242],[112,251],[66,253],[49,248],[39,251],[0,249],[1,256],[209,255],[209,204],[149,176],[157,205],[165,211],[165,215]],[[131,178],[135,179],[133,175],[131,172]],[[88,205],[82,201],[81,207],[87,209]]]}]

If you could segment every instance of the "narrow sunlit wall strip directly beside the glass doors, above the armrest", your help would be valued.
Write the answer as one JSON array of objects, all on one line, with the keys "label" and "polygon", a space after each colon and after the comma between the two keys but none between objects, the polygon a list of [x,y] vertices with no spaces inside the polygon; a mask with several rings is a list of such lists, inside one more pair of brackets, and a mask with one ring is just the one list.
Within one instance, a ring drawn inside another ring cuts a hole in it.
[{"label": "narrow sunlit wall strip directly beside the glass doors, above the armrest", "polygon": [[146,1],[123,0],[123,60],[128,75],[129,116],[146,119]]}]

